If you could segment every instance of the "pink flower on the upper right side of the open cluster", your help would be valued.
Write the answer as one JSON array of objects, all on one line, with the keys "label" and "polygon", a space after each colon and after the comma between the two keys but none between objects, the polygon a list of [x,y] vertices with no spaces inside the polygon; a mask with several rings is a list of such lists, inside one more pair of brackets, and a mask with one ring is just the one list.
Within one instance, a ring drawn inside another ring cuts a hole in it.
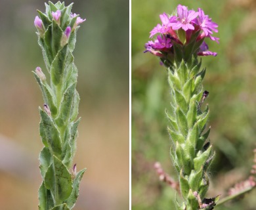
[{"label": "pink flower on the upper right side of the open cluster", "polygon": [[218,24],[211,21],[208,15],[205,15],[203,10],[198,8],[198,18],[192,20],[194,24],[200,26],[201,30],[205,33],[205,36],[213,34],[213,31],[218,32]]}]

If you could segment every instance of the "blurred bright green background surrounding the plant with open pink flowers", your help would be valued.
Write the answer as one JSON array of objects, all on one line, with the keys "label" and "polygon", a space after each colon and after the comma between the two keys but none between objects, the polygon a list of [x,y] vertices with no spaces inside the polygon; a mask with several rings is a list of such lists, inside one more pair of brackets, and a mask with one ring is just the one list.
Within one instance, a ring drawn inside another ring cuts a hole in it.
[{"label": "blurred bright green background surrounding the plant with open pink flowers", "polygon": [[[218,56],[203,57],[203,82],[209,91],[211,133],[217,152],[211,166],[208,197],[226,196],[234,183],[247,179],[253,165],[256,136],[256,1],[135,1],[132,0],[132,207],[134,210],[175,209],[175,192],[158,180],[154,162],[177,180],[169,157],[165,108],[169,106],[167,74],[158,58],[144,54],[150,31],[161,23],[159,14],[171,14],[179,4],[198,7],[219,24],[220,44],[207,40]],[[216,209],[253,210],[256,190],[244,199]]]}]

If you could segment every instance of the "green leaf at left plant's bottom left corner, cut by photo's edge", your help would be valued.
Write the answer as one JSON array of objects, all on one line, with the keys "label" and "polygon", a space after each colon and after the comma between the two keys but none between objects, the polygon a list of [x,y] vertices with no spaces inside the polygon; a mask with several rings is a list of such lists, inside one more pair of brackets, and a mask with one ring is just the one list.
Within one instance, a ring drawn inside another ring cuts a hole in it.
[{"label": "green leaf at left plant's bottom left corner, cut by photo's edge", "polygon": [[54,206],[53,196],[51,195],[51,191],[45,188],[45,182],[42,182],[39,190],[39,210],[48,210]]}]

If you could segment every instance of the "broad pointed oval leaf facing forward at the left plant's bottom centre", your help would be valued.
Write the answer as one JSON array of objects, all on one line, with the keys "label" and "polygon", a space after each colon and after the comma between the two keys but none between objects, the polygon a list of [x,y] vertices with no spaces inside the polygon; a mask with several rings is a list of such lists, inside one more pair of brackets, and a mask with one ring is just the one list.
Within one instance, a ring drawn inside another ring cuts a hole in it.
[{"label": "broad pointed oval leaf facing forward at the left plant's bottom centre", "polygon": [[45,174],[45,187],[51,190],[55,205],[62,204],[72,193],[72,177],[56,156],[53,156],[53,163]]}]

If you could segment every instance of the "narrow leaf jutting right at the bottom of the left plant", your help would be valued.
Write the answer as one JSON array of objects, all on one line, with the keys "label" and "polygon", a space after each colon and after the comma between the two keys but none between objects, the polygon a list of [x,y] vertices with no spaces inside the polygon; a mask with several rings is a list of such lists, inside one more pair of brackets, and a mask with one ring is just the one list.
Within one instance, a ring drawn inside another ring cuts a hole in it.
[{"label": "narrow leaf jutting right at the bottom of the left plant", "polygon": [[79,171],[73,181],[73,190],[72,190],[72,194],[70,195],[70,197],[68,198],[68,200],[66,200],[66,203],[68,204],[68,207],[70,209],[72,209],[75,205],[75,202],[79,196],[79,184],[80,181],[83,177],[83,173],[85,173],[86,169],[83,169],[81,171]]}]

